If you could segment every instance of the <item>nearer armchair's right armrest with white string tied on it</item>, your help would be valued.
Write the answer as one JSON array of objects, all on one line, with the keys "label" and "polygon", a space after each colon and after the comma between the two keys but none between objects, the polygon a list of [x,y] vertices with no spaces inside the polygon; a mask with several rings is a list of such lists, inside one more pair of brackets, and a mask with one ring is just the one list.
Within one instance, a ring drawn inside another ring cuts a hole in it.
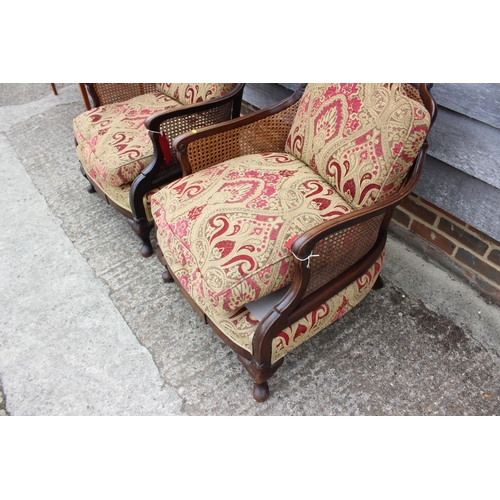
[{"label": "nearer armchair's right armrest with white string tied on it", "polygon": [[398,193],[370,207],[324,222],[299,235],[291,286],[262,319],[254,335],[254,353],[269,352],[273,338],[363,275],[383,251],[396,206],[406,198],[422,173],[427,142]]}]

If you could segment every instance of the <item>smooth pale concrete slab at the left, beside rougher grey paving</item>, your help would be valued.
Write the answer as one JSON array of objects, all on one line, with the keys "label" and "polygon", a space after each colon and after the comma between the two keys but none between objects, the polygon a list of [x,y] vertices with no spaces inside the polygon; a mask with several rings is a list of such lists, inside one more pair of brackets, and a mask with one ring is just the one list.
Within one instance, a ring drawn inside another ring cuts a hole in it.
[{"label": "smooth pale concrete slab at the left, beside rougher grey paving", "polygon": [[161,379],[0,134],[0,379],[10,415],[173,415]]}]

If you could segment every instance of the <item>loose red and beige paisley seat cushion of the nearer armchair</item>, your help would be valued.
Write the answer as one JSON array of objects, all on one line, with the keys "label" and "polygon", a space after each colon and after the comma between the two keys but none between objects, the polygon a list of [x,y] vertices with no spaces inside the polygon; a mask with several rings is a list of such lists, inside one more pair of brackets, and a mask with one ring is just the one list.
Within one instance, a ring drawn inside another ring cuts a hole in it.
[{"label": "loose red and beige paisley seat cushion of the nearer armchair", "polygon": [[174,181],[151,204],[159,245],[181,284],[202,308],[233,312],[291,282],[292,237],[352,211],[284,153],[215,165]]}]

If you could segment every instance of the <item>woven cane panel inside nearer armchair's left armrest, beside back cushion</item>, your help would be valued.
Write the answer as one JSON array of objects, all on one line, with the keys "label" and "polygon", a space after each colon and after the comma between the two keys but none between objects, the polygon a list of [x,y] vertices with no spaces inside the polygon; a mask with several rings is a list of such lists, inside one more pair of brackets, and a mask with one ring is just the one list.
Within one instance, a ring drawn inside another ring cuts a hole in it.
[{"label": "woven cane panel inside nearer armchair's left armrest, beside back cushion", "polygon": [[257,122],[190,143],[187,155],[192,172],[238,156],[284,152],[299,102]]}]

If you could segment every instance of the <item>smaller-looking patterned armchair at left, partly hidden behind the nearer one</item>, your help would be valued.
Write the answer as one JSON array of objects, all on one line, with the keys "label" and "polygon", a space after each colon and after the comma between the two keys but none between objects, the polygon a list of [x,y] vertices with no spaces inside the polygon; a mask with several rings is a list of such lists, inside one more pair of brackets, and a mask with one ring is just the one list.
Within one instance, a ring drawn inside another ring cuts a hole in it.
[{"label": "smaller-looking patterned armchair at left, partly hidden behind the nearer one", "polygon": [[184,132],[240,115],[244,84],[86,84],[95,108],[73,122],[77,155],[89,192],[97,191],[128,218],[152,255],[151,194],[182,175],[171,152]]}]

